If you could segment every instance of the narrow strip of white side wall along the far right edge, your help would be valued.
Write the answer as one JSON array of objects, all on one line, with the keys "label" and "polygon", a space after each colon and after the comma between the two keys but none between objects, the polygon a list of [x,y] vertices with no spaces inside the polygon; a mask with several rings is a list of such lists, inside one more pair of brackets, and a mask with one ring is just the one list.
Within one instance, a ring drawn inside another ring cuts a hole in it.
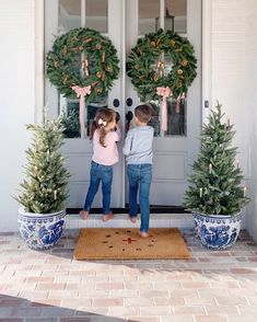
[{"label": "narrow strip of white side wall along the far right edge", "polygon": [[257,1],[248,0],[246,5],[246,56],[245,56],[245,111],[247,115],[252,204],[247,209],[246,227],[257,241]]}]

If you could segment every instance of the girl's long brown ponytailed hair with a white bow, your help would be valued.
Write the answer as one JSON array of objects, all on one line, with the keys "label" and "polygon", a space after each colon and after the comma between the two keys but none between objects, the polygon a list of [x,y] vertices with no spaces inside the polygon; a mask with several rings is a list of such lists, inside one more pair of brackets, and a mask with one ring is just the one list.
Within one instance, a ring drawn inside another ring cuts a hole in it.
[{"label": "girl's long brown ponytailed hair with a white bow", "polygon": [[101,107],[95,114],[94,120],[90,126],[90,139],[93,140],[94,133],[96,129],[100,131],[100,143],[102,147],[106,148],[104,139],[107,135],[106,126],[112,123],[116,117],[116,113],[107,107]]}]

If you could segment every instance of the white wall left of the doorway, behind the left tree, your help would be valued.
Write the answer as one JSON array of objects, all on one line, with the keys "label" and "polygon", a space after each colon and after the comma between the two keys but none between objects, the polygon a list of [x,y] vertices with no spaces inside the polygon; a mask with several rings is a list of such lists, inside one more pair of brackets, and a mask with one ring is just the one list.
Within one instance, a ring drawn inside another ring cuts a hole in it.
[{"label": "white wall left of the doorway, behind the left tree", "polygon": [[34,122],[34,0],[0,1],[0,231],[16,230],[15,194],[30,142],[25,124]]}]

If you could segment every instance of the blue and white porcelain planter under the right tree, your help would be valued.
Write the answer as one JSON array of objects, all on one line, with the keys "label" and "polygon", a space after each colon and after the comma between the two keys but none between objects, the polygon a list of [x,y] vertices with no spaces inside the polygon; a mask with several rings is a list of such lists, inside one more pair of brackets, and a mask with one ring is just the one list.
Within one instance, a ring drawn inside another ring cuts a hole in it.
[{"label": "blue and white porcelain planter under the right tree", "polygon": [[222,216],[194,212],[195,232],[200,243],[211,250],[231,248],[241,230],[241,212],[235,216]]}]

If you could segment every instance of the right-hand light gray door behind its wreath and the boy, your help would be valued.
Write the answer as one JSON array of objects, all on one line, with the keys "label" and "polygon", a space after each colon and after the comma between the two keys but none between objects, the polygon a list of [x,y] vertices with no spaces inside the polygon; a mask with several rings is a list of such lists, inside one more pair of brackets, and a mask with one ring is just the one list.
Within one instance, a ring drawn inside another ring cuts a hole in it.
[{"label": "right-hand light gray door behind its wreath and the boy", "polygon": [[[142,20],[145,20],[144,24],[151,24],[149,21],[149,18],[152,16],[151,14],[135,14],[138,7],[148,8],[148,5],[150,5],[151,9],[153,4],[156,5],[156,2],[159,2],[160,14],[155,14],[155,16],[161,15],[159,25],[161,23],[162,27],[167,26],[167,9],[174,10],[174,15],[177,15],[175,16],[176,22],[174,22],[175,31],[183,32],[180,35],[190,41],[198,60],[198,76],[189,88],[185,106],[180,106],[180,108],[185,110],[185,123],[182,124],[182,126],[178,124],[177,129],[174,130],[173,122],[168,120],[167,123],[171,123],[170,126],[172,125],[171,130],[164,134],[160,129],[161,117],[154,117],[153,182],[150,202],[151,205],[179,206],[182,205],[184,193],[188,185],[187,177],[190,173],[190,164],[192,164],[199,148],[197,138],[201,125],[201,0],[138,1],[127,1],[127,5],[129,5],[127,9],[127,53],[136,45],[138,37],[143,36],[138,32],[145,31],[145,28],[142,27]],[[185,10],[186,18],[183,13]],[[140,24],[138,23],[138,16],[140,16]],[[135,102],[131,107],[127,107],[127,111],[133,111],[139,103],[139,99],[131,87],[130,79],[127,79],[126,82],[126,96],[132,97]],[[171,101],[172,100],[167,103],[170,107],[172,106]],[[154,104],[159,105],[160,102],[154,102]]]}]

